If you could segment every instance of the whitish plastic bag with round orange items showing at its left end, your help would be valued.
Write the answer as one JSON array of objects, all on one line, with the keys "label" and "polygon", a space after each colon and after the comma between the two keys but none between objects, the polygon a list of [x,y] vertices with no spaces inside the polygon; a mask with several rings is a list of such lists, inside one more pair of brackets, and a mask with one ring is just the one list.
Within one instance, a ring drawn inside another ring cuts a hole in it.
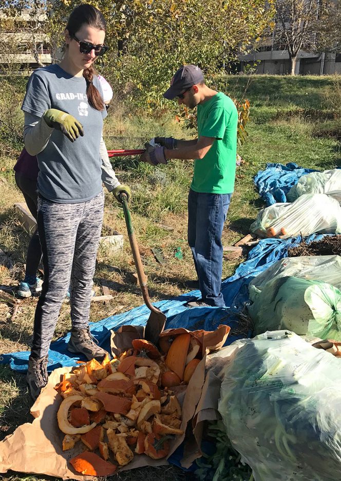
[{"label": "whitish plastic bag with round orange items showing at its left end", "polygon": [[259,237],[288,239],[313,233],[341,234],[341,206],[325,194],[301,195],[295,202],[259,211],[250,231]]}]

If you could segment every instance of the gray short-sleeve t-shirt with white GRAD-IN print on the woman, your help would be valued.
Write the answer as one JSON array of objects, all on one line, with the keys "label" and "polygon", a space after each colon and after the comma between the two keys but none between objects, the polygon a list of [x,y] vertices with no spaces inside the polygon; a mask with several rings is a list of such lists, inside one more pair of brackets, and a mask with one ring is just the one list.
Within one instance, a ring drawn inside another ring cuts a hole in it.
[{"label": "gray short-sleeve t-shirt with white GRAD-IN print on the woman", "polygon": [[[96,76],[93,85],[102,94]],[[37,155],[38,190],[45,199],[61,204],[86,202],[102,190],[100,140],[106,110],[89,105],[84,77],[72,77],[56,64],[34,70],[22,105],[24,112],[37,117],[48,109],[73,115],[83,125],[84,137],[71,142],[53,129],[47,146]]]}]

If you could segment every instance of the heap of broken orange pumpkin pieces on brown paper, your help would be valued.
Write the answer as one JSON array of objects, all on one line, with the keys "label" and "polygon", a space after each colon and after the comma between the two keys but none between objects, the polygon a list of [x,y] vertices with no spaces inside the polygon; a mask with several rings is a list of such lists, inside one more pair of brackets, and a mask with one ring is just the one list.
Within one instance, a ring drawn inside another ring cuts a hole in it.
[{"label": "heap of broken orange pumpkin pieces on brown paper", "polygon": [[169,439],[183,434],[181,407],[170,387],[188,383],[200,362],[199,349],[190,344],[190,334],[181,334],[162,357],[154,345],[135,340],[120,357],[92,359],[63,376],[54,387],[63,397],[57,415],[63,451],[78,442],[84,447],[70,459],[75,471],[107,476],[135,455],[167,456]]}]

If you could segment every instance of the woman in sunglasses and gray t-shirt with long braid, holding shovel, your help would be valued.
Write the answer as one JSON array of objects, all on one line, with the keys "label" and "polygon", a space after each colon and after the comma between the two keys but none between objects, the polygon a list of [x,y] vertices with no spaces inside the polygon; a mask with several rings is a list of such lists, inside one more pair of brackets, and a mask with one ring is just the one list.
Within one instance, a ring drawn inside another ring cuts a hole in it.
[{"label": "woman in sunglasses and gray t-shirt with long braid, holding shovel", "polygon": [[[105,32],[99,10],[87,4],[76,7],[65,29],[63,60],[35,70],[22,105],[25,148],[37,155],[39,164],[37,224],[44,264],[27,373],[33,399],[47,384],[48,349],[69,282],[67,349],[87,359],[102,360],[106,354],[88,326],[103,220],[100,149],[107,115],[93,63],[108,48]],[[116,190],[118,197],[129,189],[120,185]]]}]

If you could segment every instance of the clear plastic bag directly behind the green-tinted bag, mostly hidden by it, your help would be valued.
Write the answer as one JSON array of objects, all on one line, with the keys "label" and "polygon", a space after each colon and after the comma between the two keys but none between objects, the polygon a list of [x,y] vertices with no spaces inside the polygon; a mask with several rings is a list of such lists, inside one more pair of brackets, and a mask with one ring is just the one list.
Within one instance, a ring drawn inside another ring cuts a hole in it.
[{"label": "clear plastic bag directly behind the green-tinted bag, mostly hidden by it", "polygon": [[251,300],[254,300],[252,297],[254,292],[261,291],[267,282],[287,276],[323,280],[341,289],[341,256],[302,256],[280,259],[250,282]]}]

